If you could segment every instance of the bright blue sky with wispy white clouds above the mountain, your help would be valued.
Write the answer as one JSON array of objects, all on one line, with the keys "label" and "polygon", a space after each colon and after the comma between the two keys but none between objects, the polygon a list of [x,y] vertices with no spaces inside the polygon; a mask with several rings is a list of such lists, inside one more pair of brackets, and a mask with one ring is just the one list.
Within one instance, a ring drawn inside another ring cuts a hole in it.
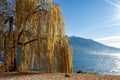
[{"label": "bright blue sky with wispy white clouds above the mountain", "polygon": [[120,0],[53,0],[65,20],[66,35],[120,48]]}]

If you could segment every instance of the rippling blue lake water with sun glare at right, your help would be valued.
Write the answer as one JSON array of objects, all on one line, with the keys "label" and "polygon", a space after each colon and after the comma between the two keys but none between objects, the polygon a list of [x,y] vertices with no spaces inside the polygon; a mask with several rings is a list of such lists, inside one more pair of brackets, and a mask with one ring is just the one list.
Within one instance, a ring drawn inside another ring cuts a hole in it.
[{"label": "rippling blue lake water with sun glare at right", "polygon": [[73,54],[73,71],[120,75],[119,55]]}]

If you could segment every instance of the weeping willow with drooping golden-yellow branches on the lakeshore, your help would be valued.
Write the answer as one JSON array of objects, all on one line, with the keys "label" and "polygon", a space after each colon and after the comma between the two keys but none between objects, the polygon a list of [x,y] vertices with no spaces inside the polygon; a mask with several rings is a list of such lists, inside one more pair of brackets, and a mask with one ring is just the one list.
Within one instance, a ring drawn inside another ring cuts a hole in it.
[{"label": "weeping willow with drooping golden-yellow branches on the lakeshore", "polygon": [[0,25],[0,45],[7,71],[72,72],[64,20],[52,0],[14,0],[13,16],[6,20]]}]

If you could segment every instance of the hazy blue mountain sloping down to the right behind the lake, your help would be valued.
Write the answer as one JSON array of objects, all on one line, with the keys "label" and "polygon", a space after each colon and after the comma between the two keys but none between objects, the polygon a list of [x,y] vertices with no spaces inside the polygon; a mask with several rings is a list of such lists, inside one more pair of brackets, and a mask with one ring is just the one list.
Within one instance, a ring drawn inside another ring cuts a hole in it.
[{"label": "hazy blue mountain sloping down to the right behind the lake", "polygon": [[106,46],[92,39],[68,37],[68,43],[77,53],[120,53],[119,48]]}]

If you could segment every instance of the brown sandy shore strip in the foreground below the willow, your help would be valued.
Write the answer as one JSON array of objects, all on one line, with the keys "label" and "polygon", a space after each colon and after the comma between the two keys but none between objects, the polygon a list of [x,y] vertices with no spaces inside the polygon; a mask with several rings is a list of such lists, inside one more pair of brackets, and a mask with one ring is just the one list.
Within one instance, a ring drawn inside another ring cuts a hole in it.
[{"label": "brown sandy shore strip in the foreground below the willow", "polygon": [[0,72],[0,80],[120,80],[120,75]]}]

